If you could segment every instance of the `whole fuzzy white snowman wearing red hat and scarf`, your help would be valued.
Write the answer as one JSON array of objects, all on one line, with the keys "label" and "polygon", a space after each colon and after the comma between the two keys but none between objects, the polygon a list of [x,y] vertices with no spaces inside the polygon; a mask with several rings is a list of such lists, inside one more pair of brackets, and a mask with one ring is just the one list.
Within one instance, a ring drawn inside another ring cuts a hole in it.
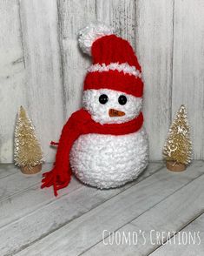
[{"label": "whole fuzzy white snowman wearing red hat and scarf", "polygon": [[148,138],[141,113],[141,66],[128,41],[104,24],[80,31],[82,51],[92,56],[82,109],[63,127],[56,163],[43,185],[57,190],[71,172],[84,184],[113,188],[138,177],[148,165]]}]

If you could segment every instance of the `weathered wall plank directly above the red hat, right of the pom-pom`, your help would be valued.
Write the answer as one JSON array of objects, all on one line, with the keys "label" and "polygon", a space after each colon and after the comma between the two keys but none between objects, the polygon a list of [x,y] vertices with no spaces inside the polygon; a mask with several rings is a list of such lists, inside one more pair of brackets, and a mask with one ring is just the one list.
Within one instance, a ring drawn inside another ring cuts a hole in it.
[{"label": "weathered wall plank directly above the red hat, right of the pom-pom", "polygon": [[135,48],[135,0],[96,0],[96,17]]}]

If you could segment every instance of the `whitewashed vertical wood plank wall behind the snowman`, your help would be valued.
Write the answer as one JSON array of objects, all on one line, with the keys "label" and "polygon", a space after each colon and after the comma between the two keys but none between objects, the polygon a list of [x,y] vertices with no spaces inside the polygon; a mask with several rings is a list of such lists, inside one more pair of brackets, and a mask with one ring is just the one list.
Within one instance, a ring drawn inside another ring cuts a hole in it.
[{"label": "whitewashed vertical wood plank wall behind the snowman", "polygon": [[0,161],[12,162],[13,130],[27,108],[46,161],[63,123],[81,106],[89,58],[76,33],[95,19],[113,25],[135,47],[145,80],[150,159],[161,159],[180,104],[192,125],[194,158],[204,157],[202,0],[3,0],[0,3]]}]

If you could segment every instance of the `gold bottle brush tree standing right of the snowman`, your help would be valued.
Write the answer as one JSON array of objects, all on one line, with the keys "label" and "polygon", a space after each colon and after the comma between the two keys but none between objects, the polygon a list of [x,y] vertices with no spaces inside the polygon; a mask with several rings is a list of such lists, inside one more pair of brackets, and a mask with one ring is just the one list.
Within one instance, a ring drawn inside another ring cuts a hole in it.
[{"label": "gold bottle brush tree standing right of the snowman", "polygon": [[163,157],[168,170],[184,171],[192,160],[192,143],[185,105],[181,105],[173,124],[168,131],[168,138],[163,148]]}]

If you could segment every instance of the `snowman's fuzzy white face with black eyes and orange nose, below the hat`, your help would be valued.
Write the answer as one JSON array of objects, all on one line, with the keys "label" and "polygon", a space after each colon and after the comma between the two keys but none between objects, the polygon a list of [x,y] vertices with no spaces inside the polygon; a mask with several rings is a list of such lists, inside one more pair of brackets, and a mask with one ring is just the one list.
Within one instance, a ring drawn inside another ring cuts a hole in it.
[{"label": "snowman's fuzzy white face with black eyes and orange nose, below the hat", "polygon": [[121,91],[93,89],[83,92],[82,104],[95,122],[120,124],[139,115],[142,98]]}]

